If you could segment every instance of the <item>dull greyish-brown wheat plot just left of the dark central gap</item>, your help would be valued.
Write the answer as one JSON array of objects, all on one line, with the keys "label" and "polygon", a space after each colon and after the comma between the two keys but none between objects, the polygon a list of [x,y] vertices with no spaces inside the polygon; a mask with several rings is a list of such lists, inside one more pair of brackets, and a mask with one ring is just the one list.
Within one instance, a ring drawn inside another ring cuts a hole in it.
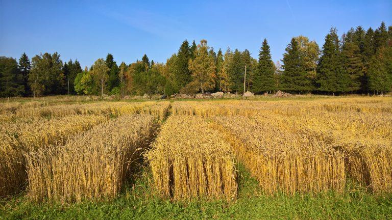
[{"label": "dull greyish-brown wheat plot just left of the dark central gap", "polygon": [[156,127],[153,116],[121,116],[64,146],[30,154],[28,197],[68,203],[116,196],[129,178],[131,162],[149,146]]}]

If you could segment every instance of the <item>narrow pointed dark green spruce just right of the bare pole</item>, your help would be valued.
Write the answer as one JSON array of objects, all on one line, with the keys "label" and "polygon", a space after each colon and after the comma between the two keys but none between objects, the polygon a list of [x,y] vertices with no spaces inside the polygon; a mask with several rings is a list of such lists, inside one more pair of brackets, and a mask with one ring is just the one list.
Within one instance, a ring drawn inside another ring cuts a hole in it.
[{"label": "narrow pointed dark green spruce just right of the bare pole", "polygon": [[263,93],[276,90],[274,78],[274,64],[271,59],[271,50],[267,40],[264,39],[259,52],[259,60],[255,68],[252,90],[255,93]]}]

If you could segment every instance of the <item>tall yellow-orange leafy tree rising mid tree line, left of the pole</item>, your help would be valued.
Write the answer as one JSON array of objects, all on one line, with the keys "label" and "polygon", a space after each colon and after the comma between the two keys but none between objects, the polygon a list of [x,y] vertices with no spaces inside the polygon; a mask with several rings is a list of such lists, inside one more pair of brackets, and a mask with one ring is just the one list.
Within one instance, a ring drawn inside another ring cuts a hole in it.
[{"label": "tall yellow-orange leafy tree rising mid tree line, left of the pole", "polygon": [[208,55],[207,41],[201,40],[198,48],[194,52],[194,60],[189,60],[189,70],[192,73],[194,85],[204,93],[206,90],[213,89],[215,86],[215,62]]}]

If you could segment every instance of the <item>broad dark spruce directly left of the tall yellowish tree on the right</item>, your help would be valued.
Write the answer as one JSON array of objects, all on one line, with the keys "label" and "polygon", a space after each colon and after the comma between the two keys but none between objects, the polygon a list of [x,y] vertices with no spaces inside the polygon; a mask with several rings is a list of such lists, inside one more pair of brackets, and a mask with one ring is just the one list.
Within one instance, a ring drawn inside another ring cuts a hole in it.
[{"label": "broad dark spruce directly left of the tall yellowish tree on the right", "polygon": [[281,88],[288,92],[310,92],[311,80],[301,60],[300,46],[296,38],[292,38],[283,54],[283,74]]}]

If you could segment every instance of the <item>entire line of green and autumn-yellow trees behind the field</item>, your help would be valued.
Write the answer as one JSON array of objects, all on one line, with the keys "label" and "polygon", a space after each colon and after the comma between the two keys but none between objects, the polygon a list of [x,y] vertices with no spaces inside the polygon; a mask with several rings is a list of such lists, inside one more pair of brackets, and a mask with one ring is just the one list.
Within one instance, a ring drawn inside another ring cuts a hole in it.
[{"label": "entire line of green and autumn-yellow trees behind the field", "polygon": [[150,62],[144,54],[140,61],[117,65],[109,53],[84,70],[77,60],[63,62],[57,52],[36,55],[31,61],[26,53],[18,62],[0,57],[1,97],[242,93],[244,88],[256,94],[392,91],[392,26],[382,22],[367,31],[357,26],[340,38],[331,28],[321,49],[308,37],[293,37],[277,63],[266,39],[258,59],[247,49],[215,52],[206,40],[198,45],[185,40],[166,63]]}]

